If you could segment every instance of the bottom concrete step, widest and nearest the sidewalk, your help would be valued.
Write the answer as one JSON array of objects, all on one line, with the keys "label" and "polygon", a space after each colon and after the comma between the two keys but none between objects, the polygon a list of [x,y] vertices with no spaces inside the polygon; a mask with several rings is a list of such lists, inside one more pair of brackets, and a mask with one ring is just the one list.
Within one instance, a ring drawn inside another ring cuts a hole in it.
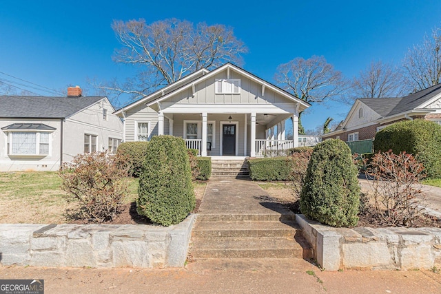
[{"label": "bottom concrete step, widest and nearest the sidewalk", "polygon": [[198,237],[192,244],[194,258],[302,258],[303,248],[294,238]]}]

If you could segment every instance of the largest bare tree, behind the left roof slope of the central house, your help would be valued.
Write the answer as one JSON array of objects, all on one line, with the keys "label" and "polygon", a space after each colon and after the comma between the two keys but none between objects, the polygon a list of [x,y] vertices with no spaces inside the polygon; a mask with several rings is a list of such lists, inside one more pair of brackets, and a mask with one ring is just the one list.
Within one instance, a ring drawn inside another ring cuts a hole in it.
[{"label": "largest bare tree, behind the left roof slope of the central house", "polygon": [[232,28],[225,25],[195,26],[178,19],[147,24],[139,19],[114,21],[112,28],[122,45],[115,51],[114,61],[141,65],[141,70],[125,83],[107,88],[135,98],[203,67],[210,69],[226,62],[241,65],[241,54],[247,52]]}]

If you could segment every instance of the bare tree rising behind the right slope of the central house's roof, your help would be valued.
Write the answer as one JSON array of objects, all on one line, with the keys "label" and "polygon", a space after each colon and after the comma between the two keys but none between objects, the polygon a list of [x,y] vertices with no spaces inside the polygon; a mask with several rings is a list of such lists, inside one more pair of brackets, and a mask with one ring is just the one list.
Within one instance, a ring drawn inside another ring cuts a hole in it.
[{"label": "bare tree rising behind the right slope of the central house's roof", "polygon": [[[298,57],[281,64],[274,79],[284,90],[307,103],[322,103],[327,98],[336,98],[347,88],[342,73],[334,70],[323,56]],[[300,114],[298,118],[298,132],[305,134]]]}]

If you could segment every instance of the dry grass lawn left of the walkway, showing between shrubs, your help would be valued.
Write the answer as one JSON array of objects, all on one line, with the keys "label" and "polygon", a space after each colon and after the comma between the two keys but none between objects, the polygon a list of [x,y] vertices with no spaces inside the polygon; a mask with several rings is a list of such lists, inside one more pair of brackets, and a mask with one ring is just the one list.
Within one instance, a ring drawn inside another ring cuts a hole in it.
[{"label": "dry grass lawn left of the walkway, showing between shrubs", "polygon": [[[74,209],[76,201],[68,201],[60,189],[56,171],[16,171],[0,173],[0,223],[61,224],[66,222],[66,209]],[[205,182],[195,182],[196,199],[201,200]],[[126,202],[136,199],[138,179],[129,179]]]}]

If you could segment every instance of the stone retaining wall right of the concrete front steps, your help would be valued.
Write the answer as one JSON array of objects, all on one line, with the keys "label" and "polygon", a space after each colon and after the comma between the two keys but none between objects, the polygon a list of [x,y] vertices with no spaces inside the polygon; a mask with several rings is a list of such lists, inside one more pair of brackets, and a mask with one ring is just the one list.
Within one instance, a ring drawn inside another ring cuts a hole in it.
[{"label": "stone retaining wall right of the concrete front steps", "polygon": [[441,266],[441,229],[334,228],[296,215],[323,269],[431,269]]}]

